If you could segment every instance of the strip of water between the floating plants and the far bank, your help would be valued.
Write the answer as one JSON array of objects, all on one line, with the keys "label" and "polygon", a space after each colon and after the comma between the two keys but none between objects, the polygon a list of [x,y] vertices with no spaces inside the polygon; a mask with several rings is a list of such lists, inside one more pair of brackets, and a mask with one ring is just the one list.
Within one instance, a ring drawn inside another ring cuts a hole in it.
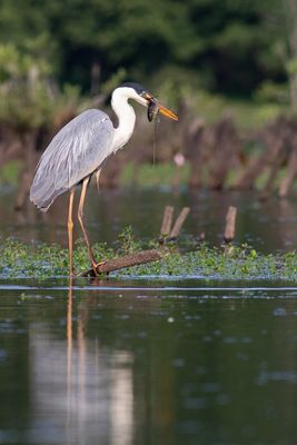
[{"label": "strip of water between the floating plants and the far bank", "polygon": [[[26,243],[38,239],[67,246],[67,194],[57,199],[48,214],[37,211],[32,205],[28,205],[23,212],[16,214],[13,200],[13,190],[0,189],[0,235],[3,238],[13,236]],[[128,225],[133,227],[140,238],[156,238],[166,205],[175,206],[175,217],[182,206],[189,206],[191,211],[182,230],[184,236],[198,237],[205,233],[210,245],[221,244],[226,212],[228,206],[232,205],[238,208],[238,243],[248,243],[264,253],[291,250],[297,246],[295,198],[271,198],[261,204],[253,192],[197,194],[185,190],[175,194],[167,188],[102,190],[100,196],[95,188],[90,188],[86,205],[90,238],[92,241],[112,244]],[[79,228],[76,236],[81,237]]]}]

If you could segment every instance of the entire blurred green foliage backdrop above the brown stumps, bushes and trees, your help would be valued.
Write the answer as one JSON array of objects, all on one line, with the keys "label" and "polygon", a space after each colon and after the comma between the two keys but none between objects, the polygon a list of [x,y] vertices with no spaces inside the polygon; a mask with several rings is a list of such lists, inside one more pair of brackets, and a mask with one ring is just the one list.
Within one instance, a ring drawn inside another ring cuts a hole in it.
[{"label": "entire blurred green foliage backdrop above the brown stumps, bushes and trees", "polygon": [[2,0],[0,125],[50,131],[125,80],[215,122],[290,103],[288,0]]}]

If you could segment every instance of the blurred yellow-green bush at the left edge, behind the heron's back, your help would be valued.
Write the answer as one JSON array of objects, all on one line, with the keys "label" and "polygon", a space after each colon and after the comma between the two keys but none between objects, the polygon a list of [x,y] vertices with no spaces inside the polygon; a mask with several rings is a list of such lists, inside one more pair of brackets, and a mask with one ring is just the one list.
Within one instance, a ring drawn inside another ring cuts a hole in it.
[{"label": "blurred yellow-green bush at the left edge, behind the heron's back", "polygon": [[0,44],[0,121],[18,132],[59,126],[63,116],[76,115],[82,102],[78,87],[58,89],[46,56],[13,43]]}]

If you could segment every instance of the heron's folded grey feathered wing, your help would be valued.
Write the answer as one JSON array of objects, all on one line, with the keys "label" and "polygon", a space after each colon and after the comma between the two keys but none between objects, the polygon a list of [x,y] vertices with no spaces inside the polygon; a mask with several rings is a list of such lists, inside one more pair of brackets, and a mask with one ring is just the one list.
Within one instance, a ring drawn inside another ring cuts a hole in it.
[{"label": "heron's folded grey feathered wing", "polygon": [[30,199],[47,210],[55,198],[92,174],[112,152],[115,129],[100,110],[87,110],[52,139],[37,167]]}]

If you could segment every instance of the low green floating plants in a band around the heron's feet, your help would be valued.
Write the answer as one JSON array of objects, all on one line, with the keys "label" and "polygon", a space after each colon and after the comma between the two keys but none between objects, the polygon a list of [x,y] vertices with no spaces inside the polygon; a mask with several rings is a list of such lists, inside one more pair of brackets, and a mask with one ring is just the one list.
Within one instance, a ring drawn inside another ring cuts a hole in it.
[{"label": "low green floating plants in a band around the heron's feet", "polygon": [[[157,241],[143,246],[135,240],[131,229],[125,229],[115,248],[95,245],[96,257],[111,259],[141,248],[157,247]],[[159,247],[162,258],[158,261],[117,270],[117,277],[197,277],[218,279],[295,279],[297,253],[264,255],[247,245],[221,248],[205,243],[191,246],[190,251],[179,253],[175,244]],[[78,273],[90,267],[87,249],[81,241],[75,247],[75,268]],[[57,245],[26,245],[9,239],[0,245],[0,277],[58,277],[68,275],[68,250]]]}]

